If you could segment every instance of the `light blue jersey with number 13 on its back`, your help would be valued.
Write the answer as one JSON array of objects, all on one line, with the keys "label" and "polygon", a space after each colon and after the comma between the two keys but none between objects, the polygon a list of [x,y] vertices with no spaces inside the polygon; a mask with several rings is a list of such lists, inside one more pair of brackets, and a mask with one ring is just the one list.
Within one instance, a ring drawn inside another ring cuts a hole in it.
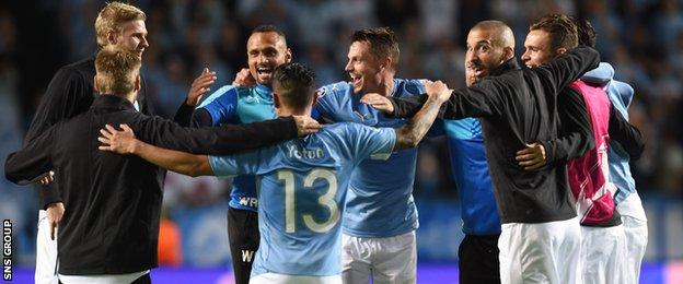
[{"label": "light blue jersey with number 13 on its back", "polygon": [[252,153],[209,157],[216,176],[258,176],[262,241],[252,276],[339,274],[348,177],[364,158],[386,158],[395,141],[391,128],[337,123]]}]

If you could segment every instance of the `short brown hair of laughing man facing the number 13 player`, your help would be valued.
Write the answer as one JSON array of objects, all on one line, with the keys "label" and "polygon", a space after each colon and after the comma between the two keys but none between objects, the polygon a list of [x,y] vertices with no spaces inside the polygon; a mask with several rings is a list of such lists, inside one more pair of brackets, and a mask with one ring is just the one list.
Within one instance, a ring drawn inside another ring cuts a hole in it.
[{"label": "short brown hair of laughing man facing the number 13 player", "polygon": [[391,58],[393,67],[398,66],[398,40],[394,31],[389,27],[369,27],[358,29],[351,35],[351,44],[356,42],[368,42],[370,50],[375,58]]}]

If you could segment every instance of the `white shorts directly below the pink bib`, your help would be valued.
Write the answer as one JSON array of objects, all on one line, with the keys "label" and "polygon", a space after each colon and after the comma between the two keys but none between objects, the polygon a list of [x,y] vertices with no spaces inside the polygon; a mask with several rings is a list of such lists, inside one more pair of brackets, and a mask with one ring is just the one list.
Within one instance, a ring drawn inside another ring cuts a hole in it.
[{"label": "white shorts directly below the pink bib", "polygon": [[581,226],[581,280],[583,284],[624,283],[626,236],[624,226]]}]

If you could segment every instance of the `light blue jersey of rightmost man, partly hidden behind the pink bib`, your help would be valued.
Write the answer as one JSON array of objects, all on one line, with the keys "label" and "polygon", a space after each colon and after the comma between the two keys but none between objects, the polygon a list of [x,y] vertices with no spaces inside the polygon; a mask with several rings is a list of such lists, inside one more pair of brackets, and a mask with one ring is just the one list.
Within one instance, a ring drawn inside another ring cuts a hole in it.
[{"label": "light blue jersey of rightmost man, partly hidden behind the pink bib", "polygon": [[[634,88],[624,82],[613,80],[613,76],[614,68],[610,63],[601,62],[597,69],[587,72],[581,80],[609,84],[606,92],[610,102],[628,120],[628,106],[634,97]],[[636,181],[630,175],[628,165],[630,157],[618,142],[611,140],[607,161],[610,162],[610,181],[617,188],[614,202],[618,204],[636,192]]]}]

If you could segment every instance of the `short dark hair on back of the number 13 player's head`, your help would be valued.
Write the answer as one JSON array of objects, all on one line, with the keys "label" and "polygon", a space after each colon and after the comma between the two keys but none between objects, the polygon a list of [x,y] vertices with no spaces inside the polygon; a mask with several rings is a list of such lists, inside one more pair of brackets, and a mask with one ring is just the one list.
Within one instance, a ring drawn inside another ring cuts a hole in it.
[{"label": "short dark hair on back of the number 13 player's head", "polygon": [[301,63],[281,64],[275,70],[273,91],[280,96],[282,104],[303,109],[315,95],[315,73]]}]

